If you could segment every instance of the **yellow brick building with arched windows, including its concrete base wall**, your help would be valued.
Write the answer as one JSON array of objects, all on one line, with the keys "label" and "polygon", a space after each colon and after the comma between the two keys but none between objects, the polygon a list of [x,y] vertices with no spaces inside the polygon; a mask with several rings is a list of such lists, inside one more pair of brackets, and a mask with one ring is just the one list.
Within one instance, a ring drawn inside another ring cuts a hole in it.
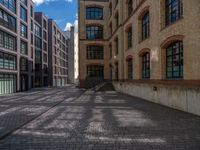
[{"label": "yellow brick building with arched windows, including its concrete base wall", "polygon": [[199,0],[80,0],[80,86],[100,76],[121,92],[200,114],[199,8]]}]

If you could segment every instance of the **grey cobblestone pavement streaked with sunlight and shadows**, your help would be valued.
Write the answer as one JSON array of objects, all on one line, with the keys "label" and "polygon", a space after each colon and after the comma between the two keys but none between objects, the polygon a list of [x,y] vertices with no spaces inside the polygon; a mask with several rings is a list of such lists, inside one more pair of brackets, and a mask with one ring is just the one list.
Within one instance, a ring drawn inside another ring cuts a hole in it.
[{"label": "grey cobblestone pavement streaked with sunlight and shadows", "polygon": [[200,117],[115,91],[81,93],[0,97],[0,150],[200,150]]}]

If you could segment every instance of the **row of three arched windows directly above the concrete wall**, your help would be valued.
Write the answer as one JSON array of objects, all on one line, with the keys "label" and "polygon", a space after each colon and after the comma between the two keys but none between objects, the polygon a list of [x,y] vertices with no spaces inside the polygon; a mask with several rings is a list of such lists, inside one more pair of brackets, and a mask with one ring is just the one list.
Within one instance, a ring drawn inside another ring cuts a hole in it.
[{"label": "row of three arched windows directly above the concrete wall", "polygon": [[[141,56],[142,78],[150,78],[150,53]],[[133,79],[133,60],[127,60],[128,79]],[[166,48],[166,78],[183,78],[183,43],[175,42]]]}]

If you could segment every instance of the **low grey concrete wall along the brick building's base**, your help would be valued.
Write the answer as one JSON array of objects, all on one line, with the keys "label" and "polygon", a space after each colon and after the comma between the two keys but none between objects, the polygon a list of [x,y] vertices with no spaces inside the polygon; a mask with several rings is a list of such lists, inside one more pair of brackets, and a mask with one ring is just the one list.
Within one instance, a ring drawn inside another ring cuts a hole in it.
[{"label": "low grey concrete wall along the brick building's base", "polygon": [[119,92],[200,115],[200,87],[129,82],[114,82],[113,85]]}]

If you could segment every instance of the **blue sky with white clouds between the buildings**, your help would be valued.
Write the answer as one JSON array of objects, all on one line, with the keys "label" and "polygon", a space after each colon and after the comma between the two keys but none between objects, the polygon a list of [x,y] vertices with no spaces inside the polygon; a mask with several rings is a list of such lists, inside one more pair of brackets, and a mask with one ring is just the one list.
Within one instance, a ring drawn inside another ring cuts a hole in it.
[{"label": "blue sky with white clouds between the buildings", "polygon": [[35,11],[42,11],[56,21],[61,29],[73,25],[77,19],[78,0],[33,0]]}]

